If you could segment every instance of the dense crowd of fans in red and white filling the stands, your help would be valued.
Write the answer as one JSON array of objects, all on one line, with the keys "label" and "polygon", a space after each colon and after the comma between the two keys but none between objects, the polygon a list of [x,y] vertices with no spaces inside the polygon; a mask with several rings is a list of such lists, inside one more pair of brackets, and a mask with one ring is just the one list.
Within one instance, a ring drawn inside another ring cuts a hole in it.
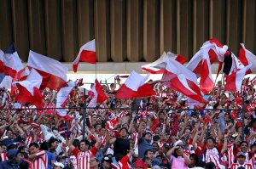
[{"label": "dense crowd of fans in red and white filling the stands", "polygon": [[[53,90],[44,90],[49,109],[32,110],[1,88],[0,169],[256,168],[255,82],[244,79],[241,93],[225,93],[217,82],[204,95],[208,103],[189,110],[194,103],[163,82],[151,82],[152,97],[115,99],[116,78],[102,83],[108,100],[86,109],[85,122],[83,106],[93,93],[79,87],[69,96],[65,118],[53,109]],[[3,110],[9,108],[18,109]]]}]

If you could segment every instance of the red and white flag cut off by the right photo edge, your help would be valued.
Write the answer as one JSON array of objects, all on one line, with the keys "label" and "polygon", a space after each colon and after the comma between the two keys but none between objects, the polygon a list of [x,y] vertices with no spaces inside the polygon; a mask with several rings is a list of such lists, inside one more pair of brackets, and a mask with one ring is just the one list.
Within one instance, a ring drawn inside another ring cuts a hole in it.
[{"label": "red and white flag cut off by the right photo edge", "polygon": [[252,67],[250,68],[248,73],[256,72],[256,56],[252,52],[247,50],[243,43],[241,43],[239,59],[243,65],[252,64]]}]

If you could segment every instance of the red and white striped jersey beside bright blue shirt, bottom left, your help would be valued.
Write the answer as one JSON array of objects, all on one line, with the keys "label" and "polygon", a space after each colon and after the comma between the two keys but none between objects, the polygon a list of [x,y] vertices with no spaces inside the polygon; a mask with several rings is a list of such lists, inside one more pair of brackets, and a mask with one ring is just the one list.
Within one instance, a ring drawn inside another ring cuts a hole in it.
[{"label": "red and white striped jersey beside bright blue shirt, bottom left", "polygon": [[32,169],[47,169],[48,167],[48,158],[44,150],[39,151],[37,158],[32,161]]}]

